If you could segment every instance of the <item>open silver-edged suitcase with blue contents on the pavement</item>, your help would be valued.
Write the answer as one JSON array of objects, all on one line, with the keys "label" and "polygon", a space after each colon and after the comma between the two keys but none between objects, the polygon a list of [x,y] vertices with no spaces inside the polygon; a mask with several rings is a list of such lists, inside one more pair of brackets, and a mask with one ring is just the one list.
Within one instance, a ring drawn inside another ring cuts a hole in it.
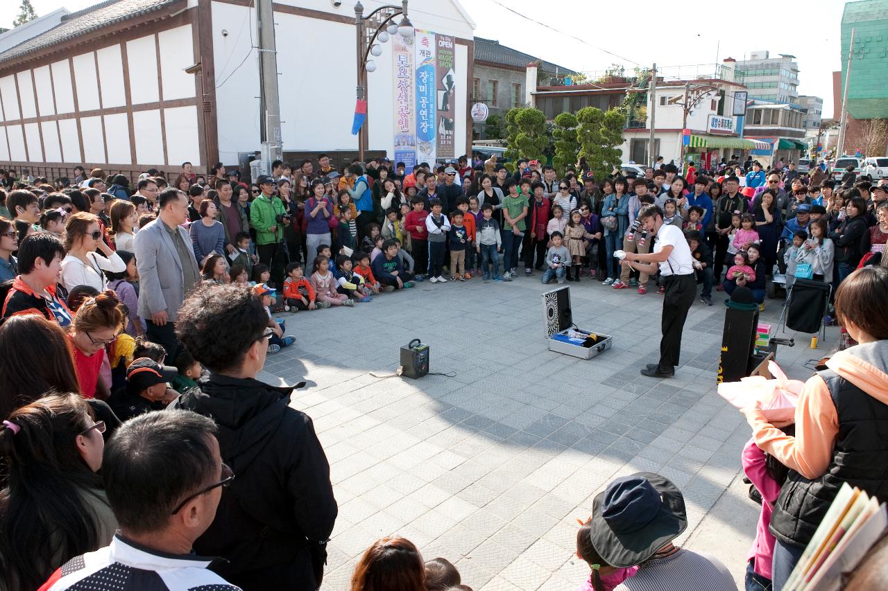
[{"label": "open silver-edged suitcase with blue contents on the pavement", "polygon": [[611,348],[614,337],[576,327],[570,311],[570,287],[552,289],[543,294],[543,317],[549,351],[580,359],[592,359]]}]

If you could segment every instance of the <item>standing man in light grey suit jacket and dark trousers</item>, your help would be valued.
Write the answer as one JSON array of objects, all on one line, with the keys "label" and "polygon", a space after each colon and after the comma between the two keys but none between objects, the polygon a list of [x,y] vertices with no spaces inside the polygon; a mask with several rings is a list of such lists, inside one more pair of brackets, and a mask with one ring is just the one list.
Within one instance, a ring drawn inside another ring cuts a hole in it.
[{"label": "standing man in light grey suit jacket and dark trousers", "polygon": [[181,227],[188,218],[188,199],[174,188],[157,197],[158,216],[136,233],[133,250],[139,269],[139,316],[147,321],[149,340],[163,345],[167,360],[176,360],[179,306],[201,274],[191,237]]}]

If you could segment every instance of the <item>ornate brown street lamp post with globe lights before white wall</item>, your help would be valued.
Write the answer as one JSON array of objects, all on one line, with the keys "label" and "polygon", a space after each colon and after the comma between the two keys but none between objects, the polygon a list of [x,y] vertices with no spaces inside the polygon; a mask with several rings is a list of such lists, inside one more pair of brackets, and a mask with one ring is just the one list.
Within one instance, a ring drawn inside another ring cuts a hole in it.
[{"label": "ornate brown street lamp post with globe lights before white wall", "polygon": [[[400,15],[399,23],[395,18]],[[377,63],[372,58],[382,54],[380,43],[388,41],[391,35],[412,37],[413,25],[407,18],[407,0],[401,0],[400,7],[392,4],[384,4],[375,11],[364,16],[364,7],[361,2],[354,5],[354,24],[357,32],[357,59],[358,59],[358,100],[367,100],[367,73],[377,69]],[[369,117],[369,113],[367,114]],[[361,130],[358,132],[358,158],[364,162],[364,152],[368,149],[369,122],[365,118]]]}]

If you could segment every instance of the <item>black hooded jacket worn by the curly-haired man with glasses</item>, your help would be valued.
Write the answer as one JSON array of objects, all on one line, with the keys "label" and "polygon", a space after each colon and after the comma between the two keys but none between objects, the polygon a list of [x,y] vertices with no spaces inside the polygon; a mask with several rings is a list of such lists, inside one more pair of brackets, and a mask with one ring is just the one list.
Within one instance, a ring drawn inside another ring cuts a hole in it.
[{"label": "black hooded jacket worn by the curly-haired man with glasses", "polygon": [[293,390],[210,374],[173,403],[218,425],[235,478],[194,550],[226,558],[214,570],[244,591],[321,586],[338,508],[312,420],[289,407]]}]

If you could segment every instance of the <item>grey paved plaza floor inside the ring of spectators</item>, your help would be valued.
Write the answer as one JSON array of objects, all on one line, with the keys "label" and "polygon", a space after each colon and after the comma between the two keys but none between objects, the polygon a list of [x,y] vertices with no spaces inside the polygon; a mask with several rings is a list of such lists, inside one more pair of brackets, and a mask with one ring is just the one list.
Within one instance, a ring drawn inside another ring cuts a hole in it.
[{"label": "grey paved plaza floor inside the ring of spectators", "polygon": [[[476,591],[574,589],[589,575],[575,556],[577,519],[609,480],[638,470],[678,485],[689,522],[678,542],[718,556],[742,588],[758,506],[741,483],[749,427],[716,393],[724,294],[694,303],[684,365],[656,380],[638,368],[657,360],[662,296],[570,286],[575,323],[614,335],[595,359],[547,350],[540,294],[555,286],[539,273],[281,314],[297,344],[260,377],[307,382],[292,406],[313,418],[339,503],[323,589],[347,589],[363,550],[393,534],[456,563]],[[782,300],[767,303],[763,320],[776,325]],[[392,373],[414,337],[431,347],[432,372],[453,377],[369,374]],[[830,328],[812,351],[797,335],[778,360],[805,379],[803,364],[836,339]]]}]

